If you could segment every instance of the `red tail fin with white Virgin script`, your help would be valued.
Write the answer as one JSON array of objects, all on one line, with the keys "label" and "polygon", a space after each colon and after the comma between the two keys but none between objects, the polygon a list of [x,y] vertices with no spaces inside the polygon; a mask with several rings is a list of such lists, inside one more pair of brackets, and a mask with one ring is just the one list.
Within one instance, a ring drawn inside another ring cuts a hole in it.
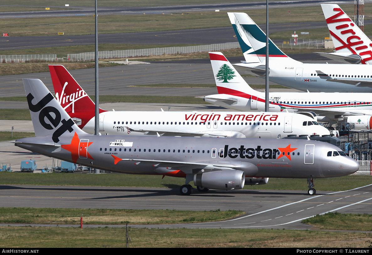
[{"label": "red tail fin with white Virgin script", "polygon": [[[49,71],[58,103],[70,117],[81,119],[84,126],[94,117],[94,102],[63,65],[49,65]],[[99,112],[106,110],[99,109]]]}]

